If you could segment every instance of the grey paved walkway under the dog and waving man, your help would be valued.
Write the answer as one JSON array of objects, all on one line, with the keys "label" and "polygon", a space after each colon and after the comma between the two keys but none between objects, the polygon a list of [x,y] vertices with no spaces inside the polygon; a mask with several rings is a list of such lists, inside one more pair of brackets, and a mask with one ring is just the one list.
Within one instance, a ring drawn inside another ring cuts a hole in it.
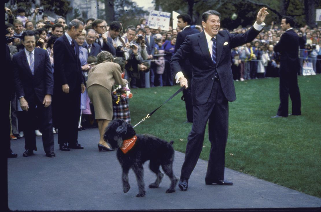
[{"label": "grey paved walkway under the dog and waving man", "polygon": [[[149,189],[155,175],[144,165],[146,196],[137,198],[134,172],[129,173],[131,189],[124,194],[121,168],[115,152],[98,151],[98,128],[79,132],[85,148],[63,152],[55,135],[55,158],[43,151],[37,137],[38,151],[22,157],[24,139],[11,141],[18,158],[8,159],[8,206],[11,210],[157,210],[157,209],[233,209],[233,208],[319,208],[321,198],[288,189],[253,176],[225,169],[226,180],[233,186],[205,185],[207,161],[199,160],[186,192],[178,187],[166,194],[169,178],[160,188]],[[177,177],[184,153],[175,152]]]}]

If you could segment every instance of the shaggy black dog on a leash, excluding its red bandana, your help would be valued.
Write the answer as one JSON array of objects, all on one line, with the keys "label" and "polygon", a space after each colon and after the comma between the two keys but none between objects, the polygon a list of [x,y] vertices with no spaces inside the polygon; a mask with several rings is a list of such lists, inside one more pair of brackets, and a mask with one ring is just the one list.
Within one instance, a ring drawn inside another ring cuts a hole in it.
[{"label": "shaggy black dog on a leash, excluding its red bandana", "polygon": [[137,140],[126,154],[120,149],[123,147],[123,140],[127,140],[136,135],[134,128],[124,120],[115,119],[111,121],[104,134],[104,140],[110,143],[113,149],[117,149],[117,158],[123,169],[122,181],[124,193],[130,189],[128,182],[128,171],[133,169],[138,184],[138,194],[136,197],[145,196],[145,184],[143,180],[143,163],[150,161],[149,168],[155,172],[156,180],[149,185],[149,188],[158,188],[164,174],[160,172],[160,165],[166,175],[169,176],[171,184],[166,193],[175,192],[178,178],[173,173],[174,149],[172,141],[168,143],[152,135],[136,135]]}]

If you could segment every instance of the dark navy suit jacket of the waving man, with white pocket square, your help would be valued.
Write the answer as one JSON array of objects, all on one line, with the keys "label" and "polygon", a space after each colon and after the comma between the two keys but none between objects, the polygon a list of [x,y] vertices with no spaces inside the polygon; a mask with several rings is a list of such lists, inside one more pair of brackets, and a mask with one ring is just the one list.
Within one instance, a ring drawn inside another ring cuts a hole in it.
[{"label": "dark navy suit jacket of the waving man, with white pocket square", "polygon": [[252,26],[244,34],[231,34],[227,30],[216,35],[216,66],[213,63],[204,31],[188,35],[170,60],[174,76],[182,71],[181,62],[188,59],[192,67],[192,101],[193,105],[205,104],[211,94],[215,70],[220,78],[222,91],[228,101],[236,99],[231,69],[231,49],[252,41],[260,31]]}]

